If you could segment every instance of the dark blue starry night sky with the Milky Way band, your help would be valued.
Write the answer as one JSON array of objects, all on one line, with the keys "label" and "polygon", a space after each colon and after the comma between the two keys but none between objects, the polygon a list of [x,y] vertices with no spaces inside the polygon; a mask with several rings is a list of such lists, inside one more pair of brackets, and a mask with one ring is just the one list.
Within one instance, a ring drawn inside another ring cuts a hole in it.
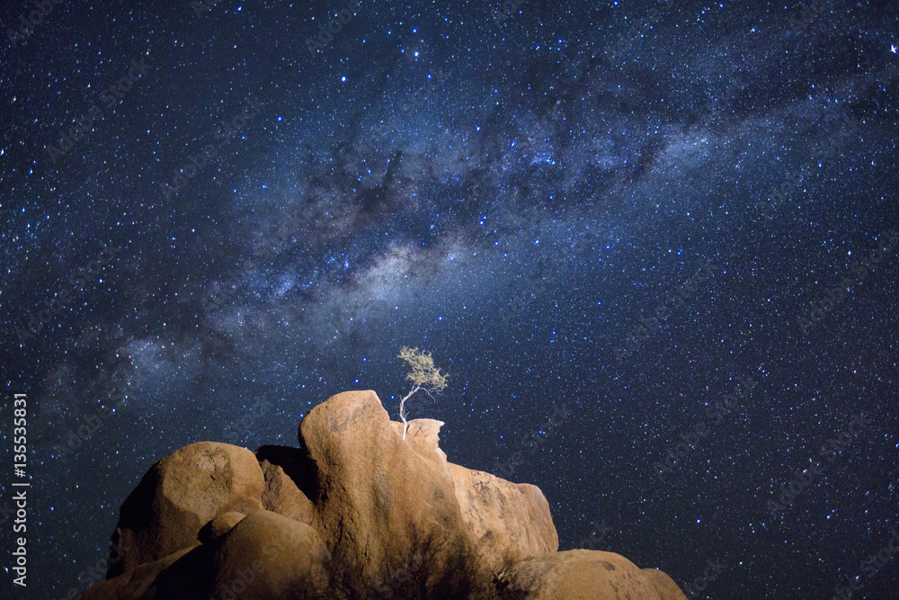
[{"label": "dark blue starry night sky with the Milky Way band", "polygon": [[408,345],[560,550],[899,598],[895,3],[47,5],[0,22],[4,597],[100,578],[183,445],[398,420]]}]

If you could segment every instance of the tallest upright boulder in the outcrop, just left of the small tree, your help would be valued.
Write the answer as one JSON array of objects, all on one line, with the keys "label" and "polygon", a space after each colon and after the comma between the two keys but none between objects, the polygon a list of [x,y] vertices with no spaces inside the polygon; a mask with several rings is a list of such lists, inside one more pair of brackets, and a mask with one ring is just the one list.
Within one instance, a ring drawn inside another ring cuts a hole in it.
[{"label": "tallest upright boulder in the outcrop, just left of the small tree", "polygon": [[341,586],[385,581],[464,597],[472,549],[440,461],[424,458],[391,425],[373,391],[338,394],[303,419],[299,443],[315,465],[310,498]]}]

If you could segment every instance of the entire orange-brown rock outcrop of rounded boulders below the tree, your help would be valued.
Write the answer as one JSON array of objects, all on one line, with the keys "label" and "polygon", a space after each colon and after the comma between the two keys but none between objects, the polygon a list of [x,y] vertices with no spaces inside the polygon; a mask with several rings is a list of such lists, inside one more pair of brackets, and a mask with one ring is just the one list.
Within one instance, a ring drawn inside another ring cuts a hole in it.
[{"label": "entire orange-brown rock outcrop of rounded boulders below the tree", "polygon": [[82,598],[686,598],[618,554],[559,552],[539,488],[448,462],[441,425],[404,440],[350,391],[309,412],[299,448],[185,446],[122,504],[121,560]]}]

